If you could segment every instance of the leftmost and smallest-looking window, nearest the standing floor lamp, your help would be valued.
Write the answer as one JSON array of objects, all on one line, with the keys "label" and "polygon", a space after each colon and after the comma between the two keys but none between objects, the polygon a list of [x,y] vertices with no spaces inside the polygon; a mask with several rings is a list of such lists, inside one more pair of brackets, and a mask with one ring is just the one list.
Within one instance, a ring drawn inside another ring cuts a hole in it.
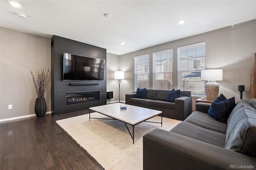
[{"label": "leftmost and smallest-looking window, nearest the standing floor lamp", "polygon": [[134,57],[134,82],[135,91],[140,89],[149,89],[149,55]]}]

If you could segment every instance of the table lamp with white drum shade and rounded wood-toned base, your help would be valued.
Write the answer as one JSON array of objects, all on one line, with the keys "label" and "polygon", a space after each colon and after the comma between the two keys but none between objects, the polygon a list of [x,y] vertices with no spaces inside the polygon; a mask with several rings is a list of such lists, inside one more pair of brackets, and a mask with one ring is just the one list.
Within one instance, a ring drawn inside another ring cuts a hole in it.
[{"label": "table lamp with white drum shade and rounded wood-toned base", "polygon": [[208,100],[215,100],[219,95],[219,85],[216,81],[222,81],[222,69],[201,70],[201,81],[205,84],[205,93]]}]

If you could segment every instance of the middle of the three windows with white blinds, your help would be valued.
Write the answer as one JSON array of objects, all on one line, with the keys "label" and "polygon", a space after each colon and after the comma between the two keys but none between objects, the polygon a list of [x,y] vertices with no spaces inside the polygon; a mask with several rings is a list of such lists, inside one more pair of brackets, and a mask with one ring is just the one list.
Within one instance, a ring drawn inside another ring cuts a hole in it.
[{"label": "middle of the three windows with white blinds", "polygon": [[153,89],[172,89],[172,49],[153,53]]}]

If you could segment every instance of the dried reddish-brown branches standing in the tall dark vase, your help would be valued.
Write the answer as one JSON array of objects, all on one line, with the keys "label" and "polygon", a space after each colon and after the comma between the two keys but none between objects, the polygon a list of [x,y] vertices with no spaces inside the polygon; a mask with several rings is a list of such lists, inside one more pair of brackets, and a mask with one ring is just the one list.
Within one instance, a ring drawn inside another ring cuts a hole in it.
[{"label": "dried reddish-brown branches standing in the tall dark vase", "polygon": [[48,71],[46,71],[45,67],[37,71],[36,77],[34,77],[32,71],[30,72],[34,81],[34,85],[36,87],[36,93],[38,95],[38,98],[44,97],[44,93],[51,80],[51,72],[49,71],[49,69]]}]

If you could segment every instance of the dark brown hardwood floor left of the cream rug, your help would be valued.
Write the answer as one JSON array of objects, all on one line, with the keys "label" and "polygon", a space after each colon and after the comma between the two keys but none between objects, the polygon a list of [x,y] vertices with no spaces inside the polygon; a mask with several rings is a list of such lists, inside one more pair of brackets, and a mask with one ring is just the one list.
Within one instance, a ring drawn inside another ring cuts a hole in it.
[{"label": "dark brown hardwood floor left of the cream rug", "polygon": [[1,123],[1,170],[103,170],[55,122],[87,113],[89,110]]}]

